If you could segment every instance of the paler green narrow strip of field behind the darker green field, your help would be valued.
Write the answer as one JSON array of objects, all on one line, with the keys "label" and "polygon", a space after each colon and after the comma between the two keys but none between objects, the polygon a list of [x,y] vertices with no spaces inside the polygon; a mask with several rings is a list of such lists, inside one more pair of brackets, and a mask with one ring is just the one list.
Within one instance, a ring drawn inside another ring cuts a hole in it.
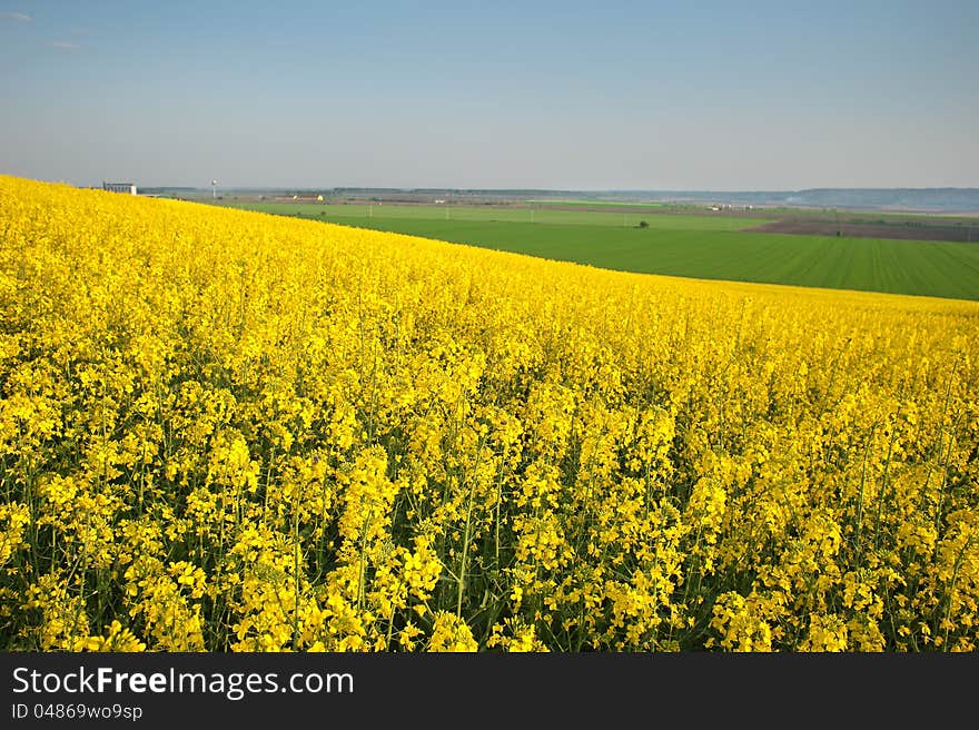
[{"label": "paler green narrow strip of field behind the darker green field", "polygon": [[[345,219],[387,220],[463,220],[498,223],[534,223],[556,225],[584,225],[627,228],[645,220],[651,228],[669,230],[740,230],[770,223],[771,218],[741,218],[730,216],[616,213],[604,210],[550,210],[514,206],[457,206],[457,205],[390,205],[379,204],[314,204],[314,203],[241,203],[225,201],[229,207],[260,210],[283,216],[325,218],[333,223]],[[323,214],[323,215],[320,215]],[[357,224],[359,225],[359,224]],[[380,225],[380,224],[378,224]],[[373,225],[369,227],[374,227]]]}]

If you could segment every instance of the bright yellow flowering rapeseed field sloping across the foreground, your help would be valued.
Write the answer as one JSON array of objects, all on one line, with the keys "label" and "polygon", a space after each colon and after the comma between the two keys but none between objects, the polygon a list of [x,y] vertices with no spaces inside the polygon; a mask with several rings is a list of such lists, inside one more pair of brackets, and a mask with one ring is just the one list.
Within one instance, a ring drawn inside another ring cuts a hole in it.
[{"label": "bright yellow flowering rapeseed field sloping across the foreground", "polygon": [[977,303],[11,177],[0,233],[0,649],[977,649]]}]

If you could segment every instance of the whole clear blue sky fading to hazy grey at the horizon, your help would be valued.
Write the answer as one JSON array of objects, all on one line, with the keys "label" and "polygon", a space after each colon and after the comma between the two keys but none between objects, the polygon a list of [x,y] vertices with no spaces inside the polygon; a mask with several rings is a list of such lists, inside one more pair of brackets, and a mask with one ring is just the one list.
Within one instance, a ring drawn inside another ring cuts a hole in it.
[{"label": "whole clear blue sky fading to hazy grey at the horizon", "polygon": [[0,0],[0,174],[979,187],[979,2]]}]

